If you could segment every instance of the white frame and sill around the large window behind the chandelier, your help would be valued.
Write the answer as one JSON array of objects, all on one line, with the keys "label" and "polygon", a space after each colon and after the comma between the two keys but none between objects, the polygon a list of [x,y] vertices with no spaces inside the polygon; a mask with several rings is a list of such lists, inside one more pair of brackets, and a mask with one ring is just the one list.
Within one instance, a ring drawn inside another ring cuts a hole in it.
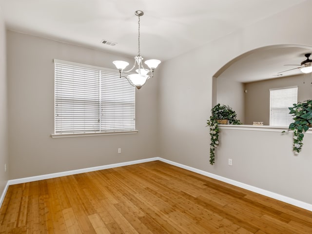
[{"label": "white frame and sill around the large window behind the chandelier", "polygon": [[[69,66],[77,66],[77,67],[82,67],[86,69],[94,69],[98,71],[104,71],[104,72],[112,72],[116,73],[116,75],[119,75],[118,72],[114,69],[109,69],[109,68],[104,68],[104,67],[98,67],[98,66],[93,66],[93,65],[88,65],[88,64],[82,64],[82,63],[76,63],[76,62],[70,62],[70,61],[64,61],[64,60],[59,60],[59,59],[54,59],[54,67],[56,63],[59,64],[64,64],[64,65],[69,65]],[[100,74],[100,73],[99,73]],[[101,76],[99,76],[99,79]],[[136,134],[138,131],[136,130],[136,90],[134,88],[134,129],[130,130],[108,130],[108,131],[102,131],[101,129],[99,132],[71,132],[71,133],[56,133],[56,73],[54,72],[54,133],[51,134],[52,138],[61,138],[61,137],[86,137],[86,136],[101,136],[101,135],[122,135],[122,134]],[[101,86],[98,86],[99,92],[101,90]],[[101,99],[99,97],[98,100],[99,108],[101,108]]]}]

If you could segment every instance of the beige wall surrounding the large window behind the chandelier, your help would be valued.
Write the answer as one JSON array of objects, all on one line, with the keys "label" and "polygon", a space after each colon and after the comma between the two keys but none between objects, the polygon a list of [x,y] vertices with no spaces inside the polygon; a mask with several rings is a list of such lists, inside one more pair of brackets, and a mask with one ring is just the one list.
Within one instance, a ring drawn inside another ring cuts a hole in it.
[{"label": "beige wall surrounding the large window behind the chandelier", "polygon": [[113,60],[134,59],[12,31],[7,32],[7,52],[10,179],[159,156],[157,71],[136,91],[137,134],[55,139],[50,136],[53,59],[107,68],[114,68]]}]

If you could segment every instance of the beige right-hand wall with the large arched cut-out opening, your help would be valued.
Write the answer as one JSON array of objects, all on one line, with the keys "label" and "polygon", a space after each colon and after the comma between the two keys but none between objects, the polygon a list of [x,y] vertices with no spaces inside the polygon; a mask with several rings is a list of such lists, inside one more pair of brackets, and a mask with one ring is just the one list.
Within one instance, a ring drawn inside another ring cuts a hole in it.
[{"label": "beige right-hand wall with the large arched cut-out opening", "polygon": [[[312,165],[311,135],[304,139],[302,153],[294,156],[290,135],[225,130],[220,136],[216,163],[211,166],[209,131],[205,127],[212,107],[215,73],[256,48],[278,44],[312,46],[312,31],[306,25],[300,26],[310,18],[310,9],[312,1],[305,1],[163,63],[159,84],[160,155],[312,204],[312,170],[307,166]],[[224,54],[228,61],[224,61]],[[233,158],[232,167],[227,164],[228,158]]]}]

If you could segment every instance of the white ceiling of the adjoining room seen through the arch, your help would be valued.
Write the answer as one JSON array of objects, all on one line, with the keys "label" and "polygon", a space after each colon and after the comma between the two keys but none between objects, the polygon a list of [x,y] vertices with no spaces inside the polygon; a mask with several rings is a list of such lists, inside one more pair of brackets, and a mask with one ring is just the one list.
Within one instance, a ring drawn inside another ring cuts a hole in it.
[{"label": "white ceiling of the adjoining room seen through the arch", "polygon": [[[238,82],[252,82],[302,75],[300,63],[307,59],[305,57],[307,53],[312,53],[312,47],[260,48],[238,58],[218,77]],[[294,69],[298,67],[299,69]],[[293,70],[287,71],[290,69]],[[311,76],[311,74],[305,76]]]}]

